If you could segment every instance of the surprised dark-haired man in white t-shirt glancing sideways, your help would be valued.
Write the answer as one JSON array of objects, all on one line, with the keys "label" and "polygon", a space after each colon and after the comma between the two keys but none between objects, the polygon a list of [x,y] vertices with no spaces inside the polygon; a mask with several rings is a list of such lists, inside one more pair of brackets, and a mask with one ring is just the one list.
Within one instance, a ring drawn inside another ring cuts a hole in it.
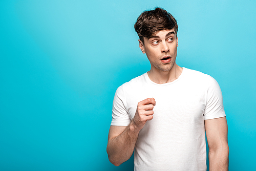
[{"label": "surprised dark-haired man in white t-shirt glancing sideways", "polygon": [[222,93],[209,75],[176,64],[178,25],[167,11],[144,11],[135,24],[151,70],[120,86],[107,152],[118,166],[134,152],[135,170],[228,170]]}]

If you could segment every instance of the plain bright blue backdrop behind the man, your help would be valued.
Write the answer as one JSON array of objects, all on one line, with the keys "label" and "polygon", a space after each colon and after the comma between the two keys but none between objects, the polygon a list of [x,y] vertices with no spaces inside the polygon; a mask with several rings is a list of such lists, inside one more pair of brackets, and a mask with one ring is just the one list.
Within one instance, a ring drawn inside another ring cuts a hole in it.
[{"label": "plain bright blue backdrop behind the man", "polygon": [[230,170],[255,170],[255,1],[1,1],[0,170],[132,170],[106,143],[116,89],[150,70],[134,24],[178,20],[177,64],[214,77]]}]

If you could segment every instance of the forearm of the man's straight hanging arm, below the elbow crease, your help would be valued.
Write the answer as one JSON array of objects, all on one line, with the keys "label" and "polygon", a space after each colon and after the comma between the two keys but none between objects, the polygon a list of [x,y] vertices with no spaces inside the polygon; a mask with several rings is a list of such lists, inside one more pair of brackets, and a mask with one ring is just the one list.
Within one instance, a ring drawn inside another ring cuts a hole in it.
[{"label": "forearm of the man's straight hanging arm, below the elbow crease", "polygon": [[209,170],[227,171],[228,170],[229,148],[223,147],[215,150],[209,149]]}]

